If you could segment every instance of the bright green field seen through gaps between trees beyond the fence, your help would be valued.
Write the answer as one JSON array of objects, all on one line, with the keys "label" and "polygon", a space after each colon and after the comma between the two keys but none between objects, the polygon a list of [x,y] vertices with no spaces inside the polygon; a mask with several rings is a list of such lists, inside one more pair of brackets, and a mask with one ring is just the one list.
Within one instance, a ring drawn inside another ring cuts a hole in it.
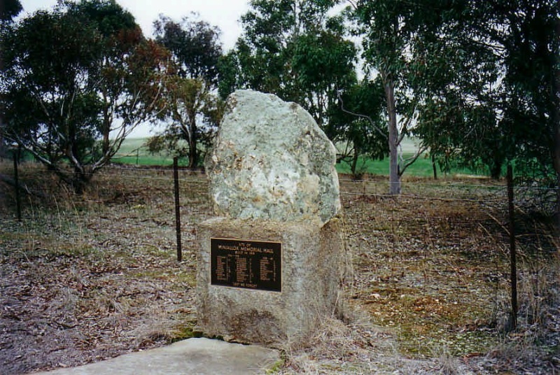
[{"label": "bright green field seen through gaps between trees beyond the fence", "polygon": [[[121,146],[119,152],[113,157],[113,162],[122,164],[134,164],[134,165],[162,165],[168,166],[173,164],[173,157],[167,155],[166,153],[160,153],[152,155],[148,152],[148,148],[145,146],[146,138],[132,138],[125,139],[123,146]],[[405,139],[402,143],[403,157],[412,157],[416,150],[416,145],[414,140]],[[358,171],[363,174],[374,174],[379,176],[387,176],[388,167],[388,157],[384,160],[371,160],[367,158],[360,158],[358,162]],[[179,160],[179,165],[185,166],[187,164],[186,160]],[[337,171],[340,174],[351,174],[350,165],[346,162],[337,163]],[[407,168],[405,171],[407,176],[416,177],[431,177],[433,176],[432,162],[427,155],[421,155],[414,164]],[[453,169],[450,172],[451,175],[456,174],[476,174],[469,169]],[[438,176],[444,176],[444,174],[437,170]]]}]

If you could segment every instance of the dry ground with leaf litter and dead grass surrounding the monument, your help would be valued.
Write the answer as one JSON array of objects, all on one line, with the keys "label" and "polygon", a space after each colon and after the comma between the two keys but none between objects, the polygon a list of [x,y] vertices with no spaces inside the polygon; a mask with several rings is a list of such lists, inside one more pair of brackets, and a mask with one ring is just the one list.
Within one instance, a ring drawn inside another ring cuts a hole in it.
[{"label": "dry ground with leaf litter and dead grass surrounding the monument", "polygon": [[[11,175],[11,164],[0,173]],[[169,169],[111,167],[83,197],[41,167],[0,183],[0,373],[82,365],[192,337],[202,174],[181,171],[176,260]],[[559,250],[519,203],[519,327],[510,330],[505,188],[479,179],[341,179],[344,301],[277,374],[558,374]]]}]

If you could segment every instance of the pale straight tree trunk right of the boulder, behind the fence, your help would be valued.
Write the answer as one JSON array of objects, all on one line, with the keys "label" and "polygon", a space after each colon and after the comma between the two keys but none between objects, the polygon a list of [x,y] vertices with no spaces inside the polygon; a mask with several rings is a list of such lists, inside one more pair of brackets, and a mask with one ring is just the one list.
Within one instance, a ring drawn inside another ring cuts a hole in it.
[{"label": "pale straight tree trunk right of the boulder, behind the fence", "polygon": [[398,129],[397,109],[395,106],[395,83],[384,80],[385,97],[387,100],[388,131],[389,131],[389,194],[400,194],[400,176],[398,171]]}]

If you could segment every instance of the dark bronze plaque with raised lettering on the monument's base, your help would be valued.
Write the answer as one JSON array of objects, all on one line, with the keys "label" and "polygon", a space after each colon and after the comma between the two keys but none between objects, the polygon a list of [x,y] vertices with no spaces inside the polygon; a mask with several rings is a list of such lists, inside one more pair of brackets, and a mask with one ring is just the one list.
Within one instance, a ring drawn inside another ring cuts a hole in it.
[{"label": "dark bronze plaque with raised lettering on the monument's base", "polygon": [[211,285],[281,292],[281,243],[210,239]]}]

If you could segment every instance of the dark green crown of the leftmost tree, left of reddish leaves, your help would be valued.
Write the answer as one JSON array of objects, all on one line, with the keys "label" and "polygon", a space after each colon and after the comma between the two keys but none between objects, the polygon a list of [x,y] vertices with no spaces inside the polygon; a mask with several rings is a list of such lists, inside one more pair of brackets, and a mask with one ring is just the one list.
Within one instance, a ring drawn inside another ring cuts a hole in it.
[{"label": "dark green crown of the leftmost tree, left of reddish leaves", "polygon": [[[101,105],[97,97],[80,90],[87,87],[85,70],[100,48],[93,29],[86,27],[80,37],[76,18],[40,11],[10,30],[3,40],[10,47],[4,55],[6,137],[29,146],[53,165],[71,148],[78,162],[84,162],[85,148],[91,145],[88,135],[99,126],[96,109]],[[65,38],[67,45],[59,43]],[[82,87],[76,87],[76,80]]]}]

